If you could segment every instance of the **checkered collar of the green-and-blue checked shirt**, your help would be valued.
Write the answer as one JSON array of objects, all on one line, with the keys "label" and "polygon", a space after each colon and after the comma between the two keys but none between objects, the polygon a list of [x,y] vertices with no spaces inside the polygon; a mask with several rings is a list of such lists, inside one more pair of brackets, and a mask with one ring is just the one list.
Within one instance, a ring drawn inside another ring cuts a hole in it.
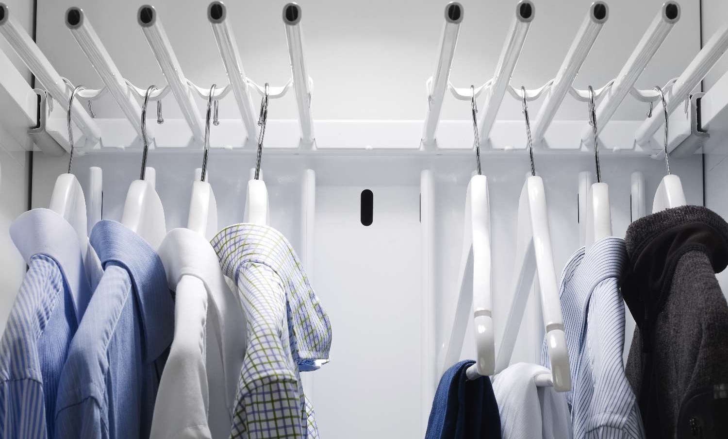
[{"label": "checkered collar of the green-and-blue checked shirt", "polygon": [[240,267],[247,263],[269,266],[282,280],[288,301],[288,328],[293,355],[301,371],[328,360],[331,323],[288,240],[269,226],[234,224],[218,232],[212,240],[223,274],[237,280]]}]

